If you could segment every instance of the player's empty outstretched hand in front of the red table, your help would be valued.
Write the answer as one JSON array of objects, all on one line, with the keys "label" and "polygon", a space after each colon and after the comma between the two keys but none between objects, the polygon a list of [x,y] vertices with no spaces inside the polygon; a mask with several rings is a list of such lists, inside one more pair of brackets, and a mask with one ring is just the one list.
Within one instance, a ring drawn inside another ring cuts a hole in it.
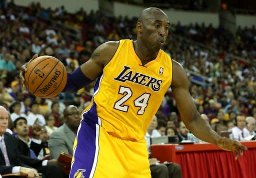
[{"label": "player's empty outstretched hand in front of the red table", "polygon": [[219,140],[217,140],[217,146],[225,151],[235,152],[235,160],[238,159],[239,152],[240,155],[242,156],[243,150],[248,150],[244,145],[240,144],[239,142],[235,140],[230,140],[226,137],[222,137]]}]

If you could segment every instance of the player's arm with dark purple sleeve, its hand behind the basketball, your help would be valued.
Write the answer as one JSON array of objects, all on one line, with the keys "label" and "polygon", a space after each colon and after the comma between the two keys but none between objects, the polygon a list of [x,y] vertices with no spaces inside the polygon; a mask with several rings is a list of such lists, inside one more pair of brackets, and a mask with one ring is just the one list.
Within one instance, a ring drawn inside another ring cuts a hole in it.
[{"label": "player's arm with dark purple sleeve, its hand behind the basketball", "polygon": [[[67,84],[64,92],[75,92],[76,90],[83,88],[91,81],[95,80],[102,72],[104,66],[111,60],[115,51],[117,50],[119,41],[108,41],[99,45],[91,54],[88,61],[80,65],[72,73],[67,75]],[[23,87],[24,85],[24,72],[26,67],[33,59],[38,57],[35,54],[32,59],[21,66],[20,79]]]}]

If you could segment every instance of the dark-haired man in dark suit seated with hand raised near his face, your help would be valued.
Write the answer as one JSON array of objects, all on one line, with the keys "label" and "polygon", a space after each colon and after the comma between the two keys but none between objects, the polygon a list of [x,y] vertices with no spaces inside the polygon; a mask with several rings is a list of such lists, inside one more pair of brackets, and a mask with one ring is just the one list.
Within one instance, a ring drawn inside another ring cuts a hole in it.
[{"label": "dark-haired man in dark suit seated with hand raised near his face", "polygon": [[[37,119],[35,119],[34,125],[32,132],[38,132]],[[30,139],[28,137],[28,125],[25,118],[19,117],[13,122],[13,131],[18,137],[16,143],[20,152],[20,160],[23,163],[37,169],[38,172],[42,173],[46,178],[63,178],[62,168],[57,164],[56,159],[39,160],[30,149],[31,145],[40,145],[40,140],[34,138]]]}]

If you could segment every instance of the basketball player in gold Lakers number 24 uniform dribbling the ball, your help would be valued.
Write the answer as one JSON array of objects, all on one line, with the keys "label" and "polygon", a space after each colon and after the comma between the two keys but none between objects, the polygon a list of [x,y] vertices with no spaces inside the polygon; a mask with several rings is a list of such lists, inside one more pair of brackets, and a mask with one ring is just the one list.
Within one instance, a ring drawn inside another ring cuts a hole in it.
[{"label": "basketball player in gold Lakers number 24 uniform dribbling the ball", "polygon": [[136,40],[103,43],[86,63],[68,73],[64,92],[75,92],[97,79],[92,102],[81,113],[69,178],[149,178],[144,135],[170,86],[191,133],[234,151],[236,158],[246,150],[221,138],[201,119],[184,69],[160,49],[169,27],[162,10],[146,8],[138,17]]}]

